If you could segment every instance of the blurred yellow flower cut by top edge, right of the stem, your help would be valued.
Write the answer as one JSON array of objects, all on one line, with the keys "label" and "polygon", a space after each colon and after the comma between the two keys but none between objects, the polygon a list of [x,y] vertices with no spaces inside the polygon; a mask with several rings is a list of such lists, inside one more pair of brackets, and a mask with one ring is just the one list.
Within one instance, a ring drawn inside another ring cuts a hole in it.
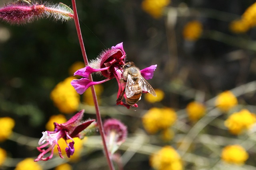
[{"label": "blurred yellow flower cut by top edge, right of the stem", "polygon": [[170,4],[170,0],[143,0],[142,10],[154,18],[160,18],[165,6]]}]

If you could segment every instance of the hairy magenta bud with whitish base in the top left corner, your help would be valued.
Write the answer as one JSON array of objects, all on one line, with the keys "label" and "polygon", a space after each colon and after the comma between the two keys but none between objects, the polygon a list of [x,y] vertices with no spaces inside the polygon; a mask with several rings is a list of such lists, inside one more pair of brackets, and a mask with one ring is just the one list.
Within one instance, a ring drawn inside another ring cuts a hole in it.
[{"label": "hairy magenta bud with whitish base in the top left corner", "polygon": [[0,8],[0,19],[11,24],[23,24],[38,18],[48,17],[67,21],[74,17],[74,13],[62,3],[52,5],[38,2],[31,3],[26,0],[17,0]]}]

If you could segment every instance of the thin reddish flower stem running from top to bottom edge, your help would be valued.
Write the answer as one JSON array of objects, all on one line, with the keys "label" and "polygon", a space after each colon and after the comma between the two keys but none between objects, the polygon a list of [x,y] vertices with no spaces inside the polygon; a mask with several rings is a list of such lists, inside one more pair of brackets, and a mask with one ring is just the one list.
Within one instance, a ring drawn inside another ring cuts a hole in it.
[{"label": "thin reddish flower stem running from top to bottom edge", "polygon": [[[86,51],[84,48],[84,42],[83,42],[82,33],[81,33],[79,20],[78,20],[78,14],[77,14],[77,10],[76,10],[76,0],[72,0],[72,7],[73,7],[73,11],[74,11],[74,21],[75,21],[75,25],[76,25],[76,31],[77,31],[77,35],[78,35],[78,39],[79,39],[79,43],[80,43],[80,48],[82,50],[82,55],[84,58],[84,63],[85,63],[85,65],[88,65],[88,59],[87,59]],[[89,76],[89,80],[92,81],[91,75]],[[100,136],[102,138],[102,143],[103,143],[104,151],[106,154],[108,166],[109,166],[110,170],[114,170],[115,168],[114,168],[111,156],[110,156],[110,152],[108,152],[108,148],[106,145],[106,137],[105,137],[105,133],[104,133],[104,129],[103,129],[102,119],[100,116],[100,109],[99,109],[98,100],[97,100],[94,86],[91,86],[91,90],[92,90],[92,97],[93,97],[94,106],[95,106],[95,110],[96,110],[96,117],[97,117],[98,127],[99,127],[99,131],[100,131]]]}]

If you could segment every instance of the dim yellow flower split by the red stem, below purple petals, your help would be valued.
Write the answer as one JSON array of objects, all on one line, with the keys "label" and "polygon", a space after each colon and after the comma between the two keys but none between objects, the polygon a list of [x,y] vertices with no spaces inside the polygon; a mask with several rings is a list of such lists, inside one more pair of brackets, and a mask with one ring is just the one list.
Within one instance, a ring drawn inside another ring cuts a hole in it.
[{"label": "dim yellow flower split by the red stem, below purple petals", "polygon": [[[95,92],[96,92],[96,96],[97,96],[97,99],[98,99],[98,104],[100,104],[100,95],[102,94],[103,92],[103,86],[102,84],[96,84],[94,85],[94,89],[95,89]],[[92,90],[91,88],[88,88],[84,94],[83,94],[83,99],[84,99],[84,102],[90,106],[94,106],[94,102],[93,102],[93,98],[92,98]]]}]

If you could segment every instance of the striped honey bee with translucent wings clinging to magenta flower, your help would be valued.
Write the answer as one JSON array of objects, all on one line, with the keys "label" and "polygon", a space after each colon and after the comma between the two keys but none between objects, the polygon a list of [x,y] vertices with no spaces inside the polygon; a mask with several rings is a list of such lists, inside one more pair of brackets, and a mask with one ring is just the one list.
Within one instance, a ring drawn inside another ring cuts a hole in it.
[{"label": "striped honey bee with translucent wings clinging to magenta flower", "polygon": [[124,92],[126,95],[126,104],[133,106],[140,98],[142,92],[149,92],[156,96],[155,90],[150,86],[146,79],[140,74],[140,69],[133,62],[125,63],[122,66],[123,74],[120,80],[121,83],[126,83],[126,86],[117,101],[121,101]]}]

